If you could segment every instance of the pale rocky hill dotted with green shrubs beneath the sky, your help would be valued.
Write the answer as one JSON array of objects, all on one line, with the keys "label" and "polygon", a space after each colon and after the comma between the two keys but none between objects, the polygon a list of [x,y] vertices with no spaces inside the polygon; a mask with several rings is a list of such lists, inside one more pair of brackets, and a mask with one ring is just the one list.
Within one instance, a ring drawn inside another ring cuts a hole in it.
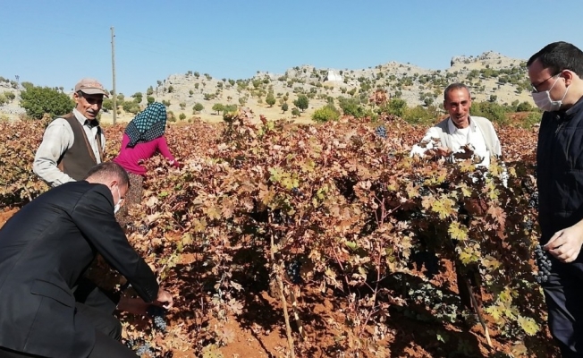
[{"label": "pale rocky hill dotted with green shrubs beneath the sky", "polygon": [[[2,80],[2,78],[0,78]],[[438,105],[443,101],[443,90],[452,82],[463,82],[471,89],[475,101],[492,100],[499,104],[530,101],[526,62],[504,55],[486,52],[477,56],[454,56],[451,65],[444,70],[431,70],[414,64],[389,62],[367,69],[349,70],[315,68],[301,65],[284,73],[257,72],[250,79],[216,79],[208,73],[189,71],[172,74],[164,81],[140,92],[141,107],[150,100],[165,101],[169,111],[177,118],[195,115],[193,107],[200,103],[204,109],[196,116],[207,121],[218,121],[220,115],[213,110],[215,104],[250,107],[256,115],[267,118],[291,118],[293,100],[306,94],[309,107],[300,120],[308,120],[318,107],[325,106],[327,98],[360,98],[367,101],[371,92],[382,89],[391,98],[402,98],[408,106]],[[20,115],[20,88],[14,81],[0,81],[0,94],[10,91],[15,98],[0,107],[0,118]],[[266,104],[266,97],[273,93],[275,105]],[[125,94],[125,99],[134,94]],[[283,113],[281,104],[286,101],[290,110]],[[518,101],[518,102],[517,102]],[[128,108],[126,108],[128,109]],[[135,109],[134,109],[135,110]],[[118,111],[121,120],[132,115]],[[105,121],[111,120],[111,112],[104,113]]]}]

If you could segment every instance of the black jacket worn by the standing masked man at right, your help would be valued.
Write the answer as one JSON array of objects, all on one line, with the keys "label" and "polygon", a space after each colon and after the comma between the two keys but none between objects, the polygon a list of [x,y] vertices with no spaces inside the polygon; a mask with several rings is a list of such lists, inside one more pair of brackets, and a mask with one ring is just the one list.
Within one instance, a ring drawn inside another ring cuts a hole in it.
[{"label": "black jacket worn by the standing masked man at right", "polygon": [[583,219],[583,99],[567,111],[545,112],[537,146],[541,243]]}]

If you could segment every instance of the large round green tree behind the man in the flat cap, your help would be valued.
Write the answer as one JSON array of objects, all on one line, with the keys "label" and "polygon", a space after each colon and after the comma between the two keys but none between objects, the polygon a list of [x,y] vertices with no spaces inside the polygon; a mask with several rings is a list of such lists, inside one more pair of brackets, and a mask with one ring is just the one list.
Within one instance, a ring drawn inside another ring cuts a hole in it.
[{"label": "large round green tree behind the man in the flat cap", "polygon": [[48,87],[32,86],[21,91],[21,107],[30,118],[40,119],[45,114],[65,115],[74,106],[72,98]]}]

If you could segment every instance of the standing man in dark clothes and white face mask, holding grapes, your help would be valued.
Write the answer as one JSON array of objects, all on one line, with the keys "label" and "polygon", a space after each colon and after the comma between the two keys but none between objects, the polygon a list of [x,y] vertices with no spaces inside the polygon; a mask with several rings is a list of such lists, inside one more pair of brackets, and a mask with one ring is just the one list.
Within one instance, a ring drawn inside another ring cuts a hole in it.
[{"label": "standing man in dark clothes and white face mask, holding grapes", "polygon": [[537,145],[538,220],[551,275],[543,283],[549,328],[563,357],[583,357],[583,52],[554,42],[527,63],[544,110]]}]

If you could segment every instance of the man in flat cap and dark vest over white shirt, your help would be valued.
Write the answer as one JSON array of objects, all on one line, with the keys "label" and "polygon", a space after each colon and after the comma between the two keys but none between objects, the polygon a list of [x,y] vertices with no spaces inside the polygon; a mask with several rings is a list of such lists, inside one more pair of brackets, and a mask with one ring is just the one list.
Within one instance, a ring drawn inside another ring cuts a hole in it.
[{"label": "man in flat cap and dark vest over white shirt", "polygon": [[103,98],[109,97],[97,80],[85,78],[75,85],[72,113],[48,124],[37,149],[32,170],[55,187],[80,181],[103,161],[106,138],[97,122]]}]

